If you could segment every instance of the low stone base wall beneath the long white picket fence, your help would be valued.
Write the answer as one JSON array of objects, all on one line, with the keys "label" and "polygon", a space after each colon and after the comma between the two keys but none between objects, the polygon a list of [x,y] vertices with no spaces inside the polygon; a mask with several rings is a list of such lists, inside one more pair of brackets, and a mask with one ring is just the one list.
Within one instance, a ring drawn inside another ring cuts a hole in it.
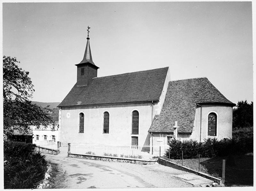
[{"label": "low stone base wall beneath the long white picket fence", "polygon": [[68,157],[71,158],[83,158],[90,160],[102,160],[102,161],[113,161],[121,163],[135,163],[135,164],[155,164],[156,160],[147,160],[147,159],[137,159],[137,158],[124,158],[124,157],[111,157],[111,156],[98,156],[98,155],[89,155],[89,154],[74,154],[68,153]]}]

